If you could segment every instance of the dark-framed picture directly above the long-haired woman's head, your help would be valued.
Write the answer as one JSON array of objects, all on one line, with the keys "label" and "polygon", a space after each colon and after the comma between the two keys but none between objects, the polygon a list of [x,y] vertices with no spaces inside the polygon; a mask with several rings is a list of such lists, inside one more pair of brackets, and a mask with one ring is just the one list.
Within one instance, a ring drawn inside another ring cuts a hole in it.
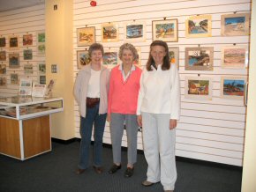
[{"label": "dark-framed picture directly above the long-haired woman's head", "polygon": [[177,18],[153,20],[152,39],[153,41],[177,42]]}]

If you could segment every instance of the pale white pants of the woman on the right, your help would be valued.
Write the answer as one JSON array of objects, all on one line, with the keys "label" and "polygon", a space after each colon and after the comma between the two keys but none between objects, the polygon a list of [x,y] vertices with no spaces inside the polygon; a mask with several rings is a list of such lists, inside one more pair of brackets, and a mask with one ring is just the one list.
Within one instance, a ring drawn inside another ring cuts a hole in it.
[{"label": "pale white pants of the woman on the right", "polygon": [[164,190],[174,190],[177,180],[175,132],[169,129],[169,114],[142,113],[147,181],[161,181]]}]

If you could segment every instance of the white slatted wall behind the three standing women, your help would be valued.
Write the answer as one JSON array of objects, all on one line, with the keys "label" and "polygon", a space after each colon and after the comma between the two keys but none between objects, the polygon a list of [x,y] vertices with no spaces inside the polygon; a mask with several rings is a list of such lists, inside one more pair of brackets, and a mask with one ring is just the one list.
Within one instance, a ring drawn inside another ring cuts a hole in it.
[{"label": "white slatted wall behind the three standing women", "polygon": [[[202,159],[223,164],[242,166],[245,140],[244,100],[222,97],[222,78],[247,78],[247,68],[222,68],[222,48],[245,46],[249,36],[222,36],[221,17],[224,14],[250,13],[251,1],[97,1],[92,7],[90,1],[74,0],[73,4],[73,70],[75,80],[79,71],[77,51],[88,47],[78,46],[77,29],[94,26],[96,42],[106,50],[118,49],[124,43],[124,23],[145,22],[146,41],[132,42],[141,51],[142,67],[147,62],[149,45],[152,42],[152,21],[177,18],[177,42],[168,42],[169,47],[179,49],[179,74],[181,78],[181,118],[177,125],[176,155],[185,158]],[[190,16],[211,15],[212,33],[209,37],[187,38],[185,20]],[[119,41],[102,42],[102,24],[117,23]],[[213,70],[185,69],[185,48],[213,48]],[[187,78],[210,78],[212,96],[210,99],[187,97]],[[75,103],[75,132],[79,136],[79,112]],[[138,134],[138,148],[142,149],[141,132]],[[111,144],[109,123],[103,142]],[[124,132],[123,146],[127,145]]]}]

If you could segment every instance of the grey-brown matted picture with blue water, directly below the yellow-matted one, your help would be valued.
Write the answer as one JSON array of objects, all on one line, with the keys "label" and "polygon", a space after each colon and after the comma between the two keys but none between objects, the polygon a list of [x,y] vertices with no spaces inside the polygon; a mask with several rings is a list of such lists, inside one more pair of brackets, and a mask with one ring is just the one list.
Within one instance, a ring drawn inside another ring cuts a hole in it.
[{"label": "grey-brown matted picture with blue water, directly below the yellow-matted one", "polygon": [[185,48],[184,70],[214,70],[214,48]]}]

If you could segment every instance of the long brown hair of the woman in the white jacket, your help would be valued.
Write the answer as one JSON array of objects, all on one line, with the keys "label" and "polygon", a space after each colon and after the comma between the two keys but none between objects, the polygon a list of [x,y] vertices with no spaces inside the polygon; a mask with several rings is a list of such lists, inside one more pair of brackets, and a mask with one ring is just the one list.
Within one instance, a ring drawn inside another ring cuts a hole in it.
[{"label": "long brown hair of the woman in the white jacket", "polygon": [[148,59],[147,59],[147,70],[152,70],[151,69],[151,65],[154,65],[154,59],[153,59],[153,56],[151,55],[151,51],[152,51],[152,48],[154,46],[162,46],[164,49],[165,49],[165,52],[166,52],[166,55],[163,57],[163,63],[162,63],[162,70],[169,70],[169,67],[170,67],[170,63],[169,63],[169,49],[168,49],[168,45],[166,42],[164,41],[153,41],[150,45],[150,52],[149,52],[149,56],[148,56]]}]

